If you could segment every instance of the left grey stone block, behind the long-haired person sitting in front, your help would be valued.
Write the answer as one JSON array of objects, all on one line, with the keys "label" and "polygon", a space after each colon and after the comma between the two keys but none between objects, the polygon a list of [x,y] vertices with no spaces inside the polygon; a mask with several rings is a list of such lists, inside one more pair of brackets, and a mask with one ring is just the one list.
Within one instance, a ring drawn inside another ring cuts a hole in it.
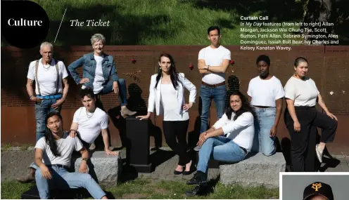
[{"label": "left grey stone block, behind the long-haired person sitting in front", "polygon": [[[104,151],[90,153],[89,174],[101,185],[117,185],[118,175],[122,171],[120,154],[107,155]],[[82,158],[75,160],[75,172],[79,172]]]}]

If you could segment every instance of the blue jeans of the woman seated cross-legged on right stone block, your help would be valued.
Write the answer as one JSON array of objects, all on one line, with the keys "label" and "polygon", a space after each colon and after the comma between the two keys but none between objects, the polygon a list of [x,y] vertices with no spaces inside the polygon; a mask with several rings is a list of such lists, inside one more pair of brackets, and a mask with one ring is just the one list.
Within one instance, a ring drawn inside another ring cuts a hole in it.
[{"label": "blue jeans of the woman seated cross-legged on right stone block", "polygon": [[208,173],[208,161],[210,157],[216,161],[239,162],[245,159],[246,153],[233,140],[218,136],[208,138],[198,152],[197,171]]}]

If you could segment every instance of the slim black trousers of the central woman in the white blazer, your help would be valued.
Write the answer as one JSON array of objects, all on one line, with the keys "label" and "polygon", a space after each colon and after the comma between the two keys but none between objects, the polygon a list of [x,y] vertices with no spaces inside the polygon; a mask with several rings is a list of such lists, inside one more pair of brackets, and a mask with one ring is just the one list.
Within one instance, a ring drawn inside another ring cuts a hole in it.
[{"label": "slim black trousers of the central woman in the white blazer", "polygon": [[[179,156],[178,165],[184,166],[190,162],[187,152],[186,131],[189,120],[186,121],[163,121],[163,132],[167,145]],[[178,140],[178,142],[177,142]]]}]

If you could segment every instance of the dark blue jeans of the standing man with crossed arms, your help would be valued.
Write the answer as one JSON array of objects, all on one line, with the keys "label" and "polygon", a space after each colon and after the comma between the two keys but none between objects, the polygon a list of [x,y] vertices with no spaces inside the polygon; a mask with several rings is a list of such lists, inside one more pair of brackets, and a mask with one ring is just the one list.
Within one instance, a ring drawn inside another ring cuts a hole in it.
[{"label": "dark blue jeans of the standing man with crossed arms", "polygon": [[201,109],[201,130],[200,133],[208,130],[208,112],[210,110],[212,98],[215,101],[217,118],[220,119],[224,114],[225,100],[227,98],[227,88],[225,85],[217,88],[200,86],[200,98],[202,102]]}]

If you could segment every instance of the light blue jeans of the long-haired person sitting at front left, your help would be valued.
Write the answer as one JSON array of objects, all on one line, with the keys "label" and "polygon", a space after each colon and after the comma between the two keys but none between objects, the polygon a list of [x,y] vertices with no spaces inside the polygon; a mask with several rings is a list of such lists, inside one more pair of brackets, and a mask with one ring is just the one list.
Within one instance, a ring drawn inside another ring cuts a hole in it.
[{"label": "light blue jeans of the long-haired person sitting at front left", "polygon": [[101,199],[106,196],[101,187],[88,173],[69,173],[65,168],[52,166],[49,167],[51,172],[51,180],[46,180],[42,176],[40,168],[35,172],[35,180],[37,182],[37,190],[39,191],[40,199],[50,198],[50,189],[69,189],[84,187],[89,191],[89,194],[94,199]]}]

